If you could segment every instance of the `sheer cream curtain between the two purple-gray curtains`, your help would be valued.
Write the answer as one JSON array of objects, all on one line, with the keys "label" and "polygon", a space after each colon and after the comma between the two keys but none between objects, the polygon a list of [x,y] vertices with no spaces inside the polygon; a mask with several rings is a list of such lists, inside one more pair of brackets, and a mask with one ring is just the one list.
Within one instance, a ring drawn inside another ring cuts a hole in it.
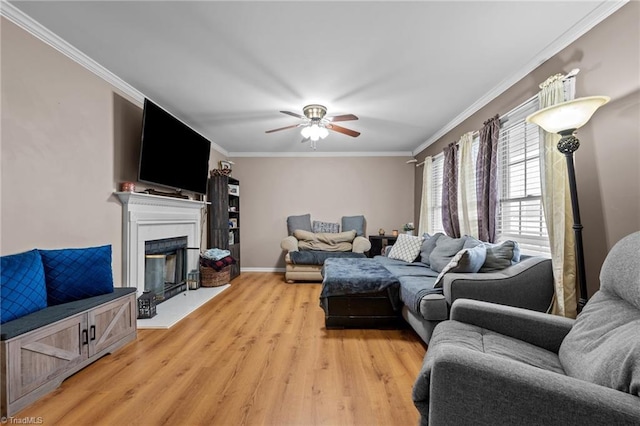
[{"label": "sheer cream curtain between the two purple-gray curtains", "polygon": [[478,202],[476,198],[476,165],[473,156],[473,132],[458,141],[458,220],[460,235],[478,238]]}]

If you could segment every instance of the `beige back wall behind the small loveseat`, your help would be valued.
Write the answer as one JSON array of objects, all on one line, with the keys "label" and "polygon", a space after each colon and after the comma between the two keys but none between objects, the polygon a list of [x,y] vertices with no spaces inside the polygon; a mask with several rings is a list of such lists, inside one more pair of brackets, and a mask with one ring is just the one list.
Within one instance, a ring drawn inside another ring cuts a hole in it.
[{"label": "beige back wall behind the small loveseat", "polygon": [[340,222],[364,215],[367,234],[413,216],[410,157],[233,158],[240,180],[242,268],[283,268],[287,216]]}]

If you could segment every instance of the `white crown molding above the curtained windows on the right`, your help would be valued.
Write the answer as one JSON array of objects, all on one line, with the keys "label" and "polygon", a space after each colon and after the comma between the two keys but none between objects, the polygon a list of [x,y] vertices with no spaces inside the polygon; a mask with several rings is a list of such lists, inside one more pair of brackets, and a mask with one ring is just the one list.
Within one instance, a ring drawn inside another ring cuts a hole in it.
[{"label": "white crown molding above the curtained windows on the right", "polygon": [[600,22],[609,17],[612,13],[620,9],[627,4],[629,0],[605,0],[598,7],[596,7],[589,15],[585,16],[580,22],[574,25],[571,29],[565,32],[561,37],[554,40],[546,48],[535,55],[520,71],[514,73],[511,77],[502,80],[496,87],[487,92],[484,96],[474,102],[471,106],[465,109],[457,117],[451,120],[446,126],[438,130],[433,136],[419,145],[413,150],[412,155],[416,156],[427,148],[432,143],[436,142],[442,136],[453,130],[457,125],[469,118],[480,108],[487,105],[489,102],[500,96],[511,86],[522,80],[528,74],[533,72],[536,68],[542,65],[545,61],[559,53],[562,49],[569,46],[576,41],[586,32],[598,25]]}]

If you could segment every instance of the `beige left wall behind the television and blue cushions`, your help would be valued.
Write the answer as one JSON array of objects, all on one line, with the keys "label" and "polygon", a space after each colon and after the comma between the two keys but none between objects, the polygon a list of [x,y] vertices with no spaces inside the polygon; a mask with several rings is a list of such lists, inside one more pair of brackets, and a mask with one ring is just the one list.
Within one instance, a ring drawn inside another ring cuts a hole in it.
[{"label": "beige left wall behind the television and blue cushions", "polygon": [[136,180],[141,105],[4,18],[1,31],[0,253],[112,244],[120,285],[113,192]]}]

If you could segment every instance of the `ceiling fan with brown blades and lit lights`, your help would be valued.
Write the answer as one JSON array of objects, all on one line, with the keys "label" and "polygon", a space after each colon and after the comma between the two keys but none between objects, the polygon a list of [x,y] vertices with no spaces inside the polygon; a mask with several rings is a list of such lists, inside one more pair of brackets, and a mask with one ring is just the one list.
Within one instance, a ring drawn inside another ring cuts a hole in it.
[{"label": "ceiling fan with brown blades and lit lights", "polygon": [[293,129],[294,127],[302,127],[302,142],[311,141],[311,148],[316,149],[316,141],[324,139],[329,134],[329,130],[342,133],[351,137],[360,136],[360,132],[347,129],[346,127],[338,126],[334,124],[338,121],[351,121],[357,120],[358,117],[353,114],[344,114],[336,116],[327,116],[327,108],[323,105],[307,105],[302,109],[304,115],[296,114],[291,111],[280,111],[283,114],[291,115],[292,117],[302,119],[302,122],[298,124],[292,124],[291,126],[280,127],[278,129],[267,130],[265,133],[278,132],[280,130]]}]

